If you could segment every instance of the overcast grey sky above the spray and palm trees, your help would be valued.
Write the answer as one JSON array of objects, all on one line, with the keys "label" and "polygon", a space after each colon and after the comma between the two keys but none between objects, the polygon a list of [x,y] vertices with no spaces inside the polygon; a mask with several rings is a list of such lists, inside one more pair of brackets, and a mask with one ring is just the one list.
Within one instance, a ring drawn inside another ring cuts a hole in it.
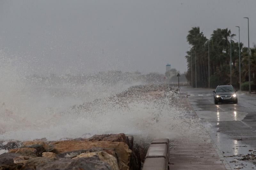
[{"label": "overcast grey sky above the spray and palm trees", "polygon": [[[181,72],[193,26],[256,41],[255,0],[0,0],[0,49],[31,73]],[[238,39],[238,38],[237,38]]]}]

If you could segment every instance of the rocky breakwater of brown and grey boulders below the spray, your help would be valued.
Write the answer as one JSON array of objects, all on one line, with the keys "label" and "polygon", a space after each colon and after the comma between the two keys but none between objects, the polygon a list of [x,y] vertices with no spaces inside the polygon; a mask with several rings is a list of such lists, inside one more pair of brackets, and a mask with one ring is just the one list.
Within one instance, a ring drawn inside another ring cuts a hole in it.
[{"label": "rocky breakwater of brown and grey boulders below the spray", "polygon": [[140,170],[133,137],[123,133],[60,141],[15,141],[0,148],[8,150],[0,155],[0,170]]}]

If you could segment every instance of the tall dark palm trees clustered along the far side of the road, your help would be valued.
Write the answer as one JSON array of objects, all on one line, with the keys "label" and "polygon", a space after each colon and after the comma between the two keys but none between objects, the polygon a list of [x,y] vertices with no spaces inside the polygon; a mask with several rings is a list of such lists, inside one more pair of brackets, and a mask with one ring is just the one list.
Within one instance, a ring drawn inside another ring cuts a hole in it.
[{"label": "tall dark palm trees clustered along the far side of the road", "polygon": [[[233,38],[235,34],[231,34],[228,28],[216,29],[208,40],[199,27],[192,27],[188,31],[187,41],[190,50],[187,51],[185,58],[187,59],[188,71],[186,78],[191,85],[191,70],[193,87],[208,87],[208,41],[210,54],[210,87],[215,88],[217,85],[230,84],[230,38],[231,38],[231,75],[232,85],[239,87],[239,46],[238,42]],[[241,52],[241,83],[249,81],[248,77],[248,47],[240,42]],[[191,58],[192,56],[192,58]],[[195,60],[196,56],[196,60]],[[191,60],[192,59],[192,60]],[[256,83],[254,73],[256,72],[256,46],[250,48],[251,59],[251,81]],[[192,62],[192,64],[191,64]],[[192,69],[191,69],[192,65]],[[195,77],[196,68],[196,77]]]}]

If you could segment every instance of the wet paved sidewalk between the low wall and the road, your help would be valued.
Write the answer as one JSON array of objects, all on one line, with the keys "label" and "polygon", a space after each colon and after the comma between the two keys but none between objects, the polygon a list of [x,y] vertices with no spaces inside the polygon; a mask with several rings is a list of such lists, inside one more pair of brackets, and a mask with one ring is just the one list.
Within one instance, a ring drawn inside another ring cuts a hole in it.
[{"label": "wet paved sidewalk between the low wall and the road", "polygon": [[[197,117],[188,98],[184,98],[188,114]],[[192,111],[192,112],[190,112]],[[202,133],[198,131],[198,133]],[[171,141],[170,167],[176,169],[231,169],[209,134],[200,143]],[[209,142],[210,141],[210,142]]]}]

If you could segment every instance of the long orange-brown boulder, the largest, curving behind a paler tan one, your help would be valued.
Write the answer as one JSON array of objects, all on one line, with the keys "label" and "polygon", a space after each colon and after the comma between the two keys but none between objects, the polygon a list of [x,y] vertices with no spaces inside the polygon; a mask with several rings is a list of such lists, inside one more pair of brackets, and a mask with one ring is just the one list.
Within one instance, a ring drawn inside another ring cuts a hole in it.
[{"label": "long orange-brown boulder, the largest, curving behind a paler tan one", "polygon": [[119,169],[128,170],[130,166],[130,160],[132,155],[132,150],[129,149],[128,145],[124,142],[108,142],[108,141],[58,141],[52,142],[51,145],[54,146],[58,152],[69,152],[74,150],[83,150],[95,147],[114,149],[117,157],[119,159]]}]

